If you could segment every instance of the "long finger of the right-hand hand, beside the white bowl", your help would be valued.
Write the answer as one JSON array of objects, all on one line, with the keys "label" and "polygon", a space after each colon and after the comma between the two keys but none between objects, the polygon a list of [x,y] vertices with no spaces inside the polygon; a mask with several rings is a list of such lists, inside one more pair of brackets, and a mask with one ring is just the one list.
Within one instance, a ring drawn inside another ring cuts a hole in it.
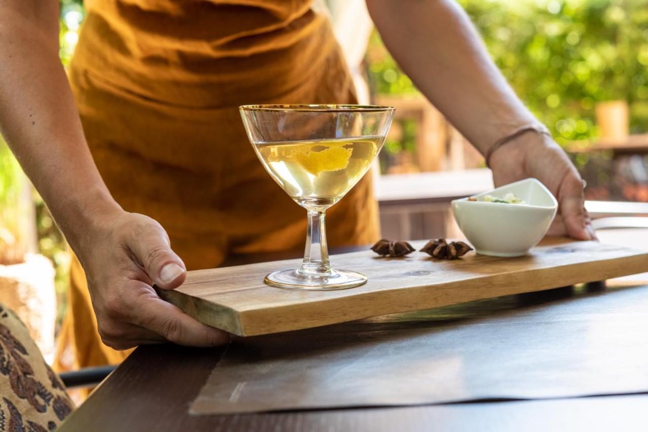
[{"label": "long finger of the right-hand hand, beside the white bowl", "polygon": [[584,208],[583,183],[577,174],[568,174],[559,191],[559,211],[567,234],[578,240],[592,240],[586,229],[589,216]]}]

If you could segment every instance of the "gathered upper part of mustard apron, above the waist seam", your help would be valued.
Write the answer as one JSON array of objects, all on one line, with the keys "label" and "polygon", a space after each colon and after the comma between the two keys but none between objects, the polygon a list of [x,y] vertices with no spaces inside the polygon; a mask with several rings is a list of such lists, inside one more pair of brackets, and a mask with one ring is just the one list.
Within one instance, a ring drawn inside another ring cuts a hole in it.
[{"label": "gathered upper part of mustard apron, above the waist seam", "polygon": [[71,65],[179,106],[272,100],[307,82],[335,47],[313,0],[86,0]]}]

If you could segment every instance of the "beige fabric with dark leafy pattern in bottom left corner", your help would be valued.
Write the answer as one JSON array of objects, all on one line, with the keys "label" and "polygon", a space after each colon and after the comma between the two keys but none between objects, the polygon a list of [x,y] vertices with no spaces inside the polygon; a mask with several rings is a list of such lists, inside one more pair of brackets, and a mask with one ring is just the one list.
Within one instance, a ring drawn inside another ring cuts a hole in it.
[{"label": "beige fabric with dark leafy pattern in bottom left corner", "polygon": [[74,409],[29,331],[0,304],[0,432],[47,432]]}]

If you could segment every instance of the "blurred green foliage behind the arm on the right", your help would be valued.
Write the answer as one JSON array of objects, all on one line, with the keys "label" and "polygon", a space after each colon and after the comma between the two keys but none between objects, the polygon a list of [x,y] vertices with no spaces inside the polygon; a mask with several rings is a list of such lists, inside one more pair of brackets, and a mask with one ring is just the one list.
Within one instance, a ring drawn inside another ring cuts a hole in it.
[{"label": "blurred green foliage behind the arm on the right", "polygon": [[[631,131],[648,130],[645,0],[459,0],[516,93],[564,144],[597,136],[594,104],[624,99]],[[375,34],[378,93],[416,93]],[[375,52],[372,52],[375,51]]]}]

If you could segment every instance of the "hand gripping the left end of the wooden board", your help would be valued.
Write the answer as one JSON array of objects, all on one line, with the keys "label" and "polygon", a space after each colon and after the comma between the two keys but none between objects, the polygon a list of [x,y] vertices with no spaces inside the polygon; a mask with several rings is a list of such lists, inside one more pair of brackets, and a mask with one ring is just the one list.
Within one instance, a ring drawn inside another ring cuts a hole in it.
[{"label": "hand gripping the left end of the wooden board", "polygon": [[187,274],[159,223],[119,209],[97,218],[87,231],[74,249],[106,345],[123,350],[165,341],[195,347],[229,341],[227,332],[199,323],[152,288],[172,290]]}]

